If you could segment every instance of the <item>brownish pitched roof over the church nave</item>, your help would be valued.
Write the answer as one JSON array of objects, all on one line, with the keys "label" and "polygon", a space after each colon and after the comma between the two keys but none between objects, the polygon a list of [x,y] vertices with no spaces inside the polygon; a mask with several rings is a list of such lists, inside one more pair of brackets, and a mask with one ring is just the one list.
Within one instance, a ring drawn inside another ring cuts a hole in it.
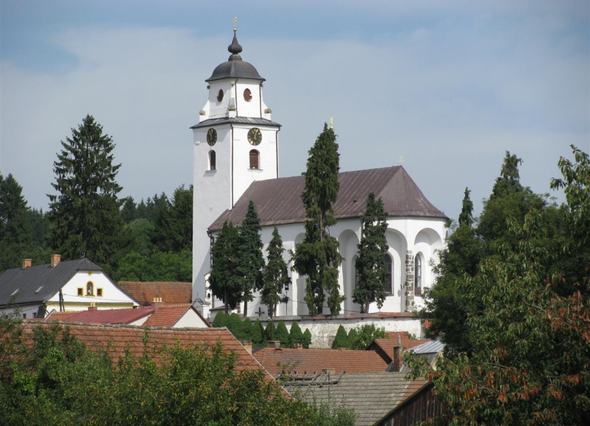
[{"label": "brownish pitched roof over the church nave", "polygon": [[[419,216],[447,219],[426,199],[420,188],[402,166],[357,170],[338,174],[340,191],[334,204],[336,219],[361,217],[366,209],[369,192],[382,197],[389,216]],[[305,207],[301,199],[305,177],[268,179],[253,182],[232,210],[226,210],[209,229],[222,229],[225,221],[242,223],[248,202],[254,201],[260,224],[279,225],[305,221]]]}]

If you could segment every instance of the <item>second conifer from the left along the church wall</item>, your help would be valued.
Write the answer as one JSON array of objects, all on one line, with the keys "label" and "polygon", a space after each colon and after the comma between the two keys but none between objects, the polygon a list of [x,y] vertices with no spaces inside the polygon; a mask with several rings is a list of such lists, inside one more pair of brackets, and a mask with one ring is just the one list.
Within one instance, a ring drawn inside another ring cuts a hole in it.
[{"label": "second conifer from the left along the church wall", "polygon": [[248,315],[248,302],[253,300],[253,290],[262,288],[262,240],[260,239],[260,220],[252,200],[248,203],[248,212],[239,228],[238,267],[237,274],[242,287],[244,315]]}]

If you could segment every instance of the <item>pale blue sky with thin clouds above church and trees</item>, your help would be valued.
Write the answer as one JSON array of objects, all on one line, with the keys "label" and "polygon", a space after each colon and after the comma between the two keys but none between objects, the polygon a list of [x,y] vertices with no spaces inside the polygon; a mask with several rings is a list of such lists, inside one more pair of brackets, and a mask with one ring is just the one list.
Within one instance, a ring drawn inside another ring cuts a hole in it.
[{"label": "pale blue sky with thin clouds above church and trees", "polygon": [[116,144],[120,196],[192,183],[206,82],[228,58],[266,79],[280,176],[334,119],[342,171],[400,165],[456,219],[506,151],[549,192],[569,145],[590,152],[587,0],[0,0],[0,172],[48,207],[60,141],[86,114]]}]

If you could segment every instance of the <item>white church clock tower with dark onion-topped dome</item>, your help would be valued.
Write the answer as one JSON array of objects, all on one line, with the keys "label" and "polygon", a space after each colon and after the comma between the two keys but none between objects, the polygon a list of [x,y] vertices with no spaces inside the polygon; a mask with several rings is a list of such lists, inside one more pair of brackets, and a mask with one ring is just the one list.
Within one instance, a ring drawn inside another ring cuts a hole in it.
[{"label": "white church clock tower with dark onion-topped dome", "polygon": [[[193,300],[210,302],[208,227],[254,181],[279,176],[278,132],[256,68],[242,61],[236,30],[228,61],[206,79],[208,100],[193,125]],[[208,314],[204,305],[203,314]]]}]

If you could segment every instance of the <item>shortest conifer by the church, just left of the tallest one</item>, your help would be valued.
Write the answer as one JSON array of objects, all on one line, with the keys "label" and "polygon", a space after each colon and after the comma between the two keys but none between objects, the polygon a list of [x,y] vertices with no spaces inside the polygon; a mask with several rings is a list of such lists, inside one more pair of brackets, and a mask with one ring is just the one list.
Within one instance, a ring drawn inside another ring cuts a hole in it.
[{"label": "shortest conifer by the church, just left of the tallest one", "polygon": [[273,230],[273,239],[268,243],[266,251],[268,257],[264,267],[264,286],[262,287],[261,301],[268,306],[268,316],[272,318],[275,315],[277,305],[286,303],[289,300],[287,295],[282,295],[282,292],[291,284],[287,264],[283,259],[285,249],[277,227]]}]

